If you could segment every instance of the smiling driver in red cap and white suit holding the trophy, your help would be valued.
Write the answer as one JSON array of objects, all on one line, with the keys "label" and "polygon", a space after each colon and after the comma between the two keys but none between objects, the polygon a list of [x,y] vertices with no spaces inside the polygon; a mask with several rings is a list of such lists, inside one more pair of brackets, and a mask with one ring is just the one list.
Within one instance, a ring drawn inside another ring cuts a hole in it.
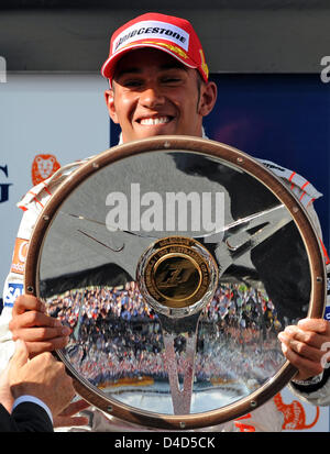
[{"label": "smiling driver in red cap and white suit holding the trophy", "polygon": [[[191,24],[179,18],[147,13],[128,22],[114,32],[109,58],[102,66],[109,80],[106,101],[110,118],[120,124],[121,142],[155,135],[175,134],[202,136],[202,120],[216,103],[217,87],[208,78],[204,49]],[[81,162],[84,163],[84,162]],[[81,163],[65,170],[30,191],[19,203],[24,215],[19,239],[30,240],[33,226],[56,187]],[[312,207],[310,214],[316,218]],[[318,221],[316,221],[317,223]],[[23,273],[11,270],[4,286],[4,302],[10,301],[12,286],[22,288]],[[13,340],[26,342],[31,355],[65,346],[68,331],[47,317],[43,304],[34,297],[21,295],[13,308],[8,302],[0,319],[0,366],[12,354]],[[326,320],[304,320],[280,334],[283,352],[298,368],[296,391],[317,405],[330,403],[329,368],[324,368],[321,350],[330,342]],[[65,421],[66,424],[73,420]],[[251,412],[244,423],[258,431],[280,431],[283,414],[273,400]],[[128,425],[125,425],[128,427]],[[230,422],[216,430],[239,430]],[[92,430],[117,430],[98,410],[94,410]]]}]

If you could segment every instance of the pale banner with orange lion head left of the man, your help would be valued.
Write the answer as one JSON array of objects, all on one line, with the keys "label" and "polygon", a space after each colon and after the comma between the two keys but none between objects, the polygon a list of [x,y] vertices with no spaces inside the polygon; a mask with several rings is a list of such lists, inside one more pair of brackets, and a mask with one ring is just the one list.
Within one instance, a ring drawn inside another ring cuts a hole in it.
[{"label": "pale banner with orange lion head left of the man", "polygon": [[58,166],[109,147],[106,89],[100,75],[7,74],[0,84],[0,297],[22,217],[16,202]]}]

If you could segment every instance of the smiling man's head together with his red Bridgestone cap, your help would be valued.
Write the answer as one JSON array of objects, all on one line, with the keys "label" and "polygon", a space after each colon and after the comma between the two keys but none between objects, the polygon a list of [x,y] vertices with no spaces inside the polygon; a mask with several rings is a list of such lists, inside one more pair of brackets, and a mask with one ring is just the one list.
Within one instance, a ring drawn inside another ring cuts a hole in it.
[{"label": "smiling man's head together with his red Bridgestone cap", "polygon": [[144,14],[112,36],[102,67],[110,118],[122,141],[164,134],[201,136],[217,99],[205,54],[190,23]]}]

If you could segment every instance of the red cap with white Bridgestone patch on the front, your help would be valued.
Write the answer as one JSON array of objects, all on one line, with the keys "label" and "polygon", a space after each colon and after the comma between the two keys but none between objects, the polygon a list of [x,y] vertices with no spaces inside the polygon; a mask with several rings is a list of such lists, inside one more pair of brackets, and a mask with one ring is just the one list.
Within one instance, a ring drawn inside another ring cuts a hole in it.
[{"label": "red cap with white Bridgestone patch on the front", "polygon": [[139,47],[167,52],[189,68],[197,69],[205,81],[208,80],[205,54],[190,22],[151,12],[129,21],[111,36],[109,58],[101,68],[101,74],[109,79],[110,85],[118,60]]}]

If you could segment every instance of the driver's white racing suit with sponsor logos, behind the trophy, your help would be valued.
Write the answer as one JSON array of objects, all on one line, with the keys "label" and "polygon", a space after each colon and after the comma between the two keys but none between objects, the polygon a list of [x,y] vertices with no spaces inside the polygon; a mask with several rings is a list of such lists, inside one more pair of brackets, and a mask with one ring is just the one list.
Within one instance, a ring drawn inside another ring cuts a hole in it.
[{"label": "driver's white racing suit with sponsor logos, behind the trophy", "polygon": [[[31,189],[25,197],[18,203],[18,207],[23,210],[23,218],[19,228],[15,250],[11,270],[6,279],[3,291],[3,311],[0,317],[0,370],[2,370],[8,361],[13,354],[14,342],[11,339],[9,322],[12,317],[12,307],[15,298],[23,292],[23,275],[24,275],[24,248],[29,244],[33,228],[38,214],[43,210],[47,200],[52,197],[56,188],[62,184],[76,168],[85,164],[88,159],[73,163],[57,170],[47,180],[38,184]],[[321,230],[318,217],[314,210],[312,201],[321,195],[301,176],[296,173],[275,165],[274,163],[261,160],[268,169],[279,176],[283,181],[293,190],[298,199],[305,204],[315,228],[321,237]],[[329,259],[324,251],[324,261],[330,269]],[[328,300],[328,304],[329,300]],[[323,374],[315,377],[311,381],[293,384],[292,390],[300,398],[316,406],[327,406],[330,403],[330,380],[329,369],[324,369]],[[100,410],[91,408],[90,427],[88,428],[70,428],[69,431],[145,431],[145,428],[130,424],[123,421],[116,420],[109,414],[103,414]],[[251,411],[242,419],[230,421],[213,428],[207,428],[208,431],[258,431],[258,432],[279,432],[283,428],[284,416],[279,411],[276,400],[271,399],[262,407]]]}]

